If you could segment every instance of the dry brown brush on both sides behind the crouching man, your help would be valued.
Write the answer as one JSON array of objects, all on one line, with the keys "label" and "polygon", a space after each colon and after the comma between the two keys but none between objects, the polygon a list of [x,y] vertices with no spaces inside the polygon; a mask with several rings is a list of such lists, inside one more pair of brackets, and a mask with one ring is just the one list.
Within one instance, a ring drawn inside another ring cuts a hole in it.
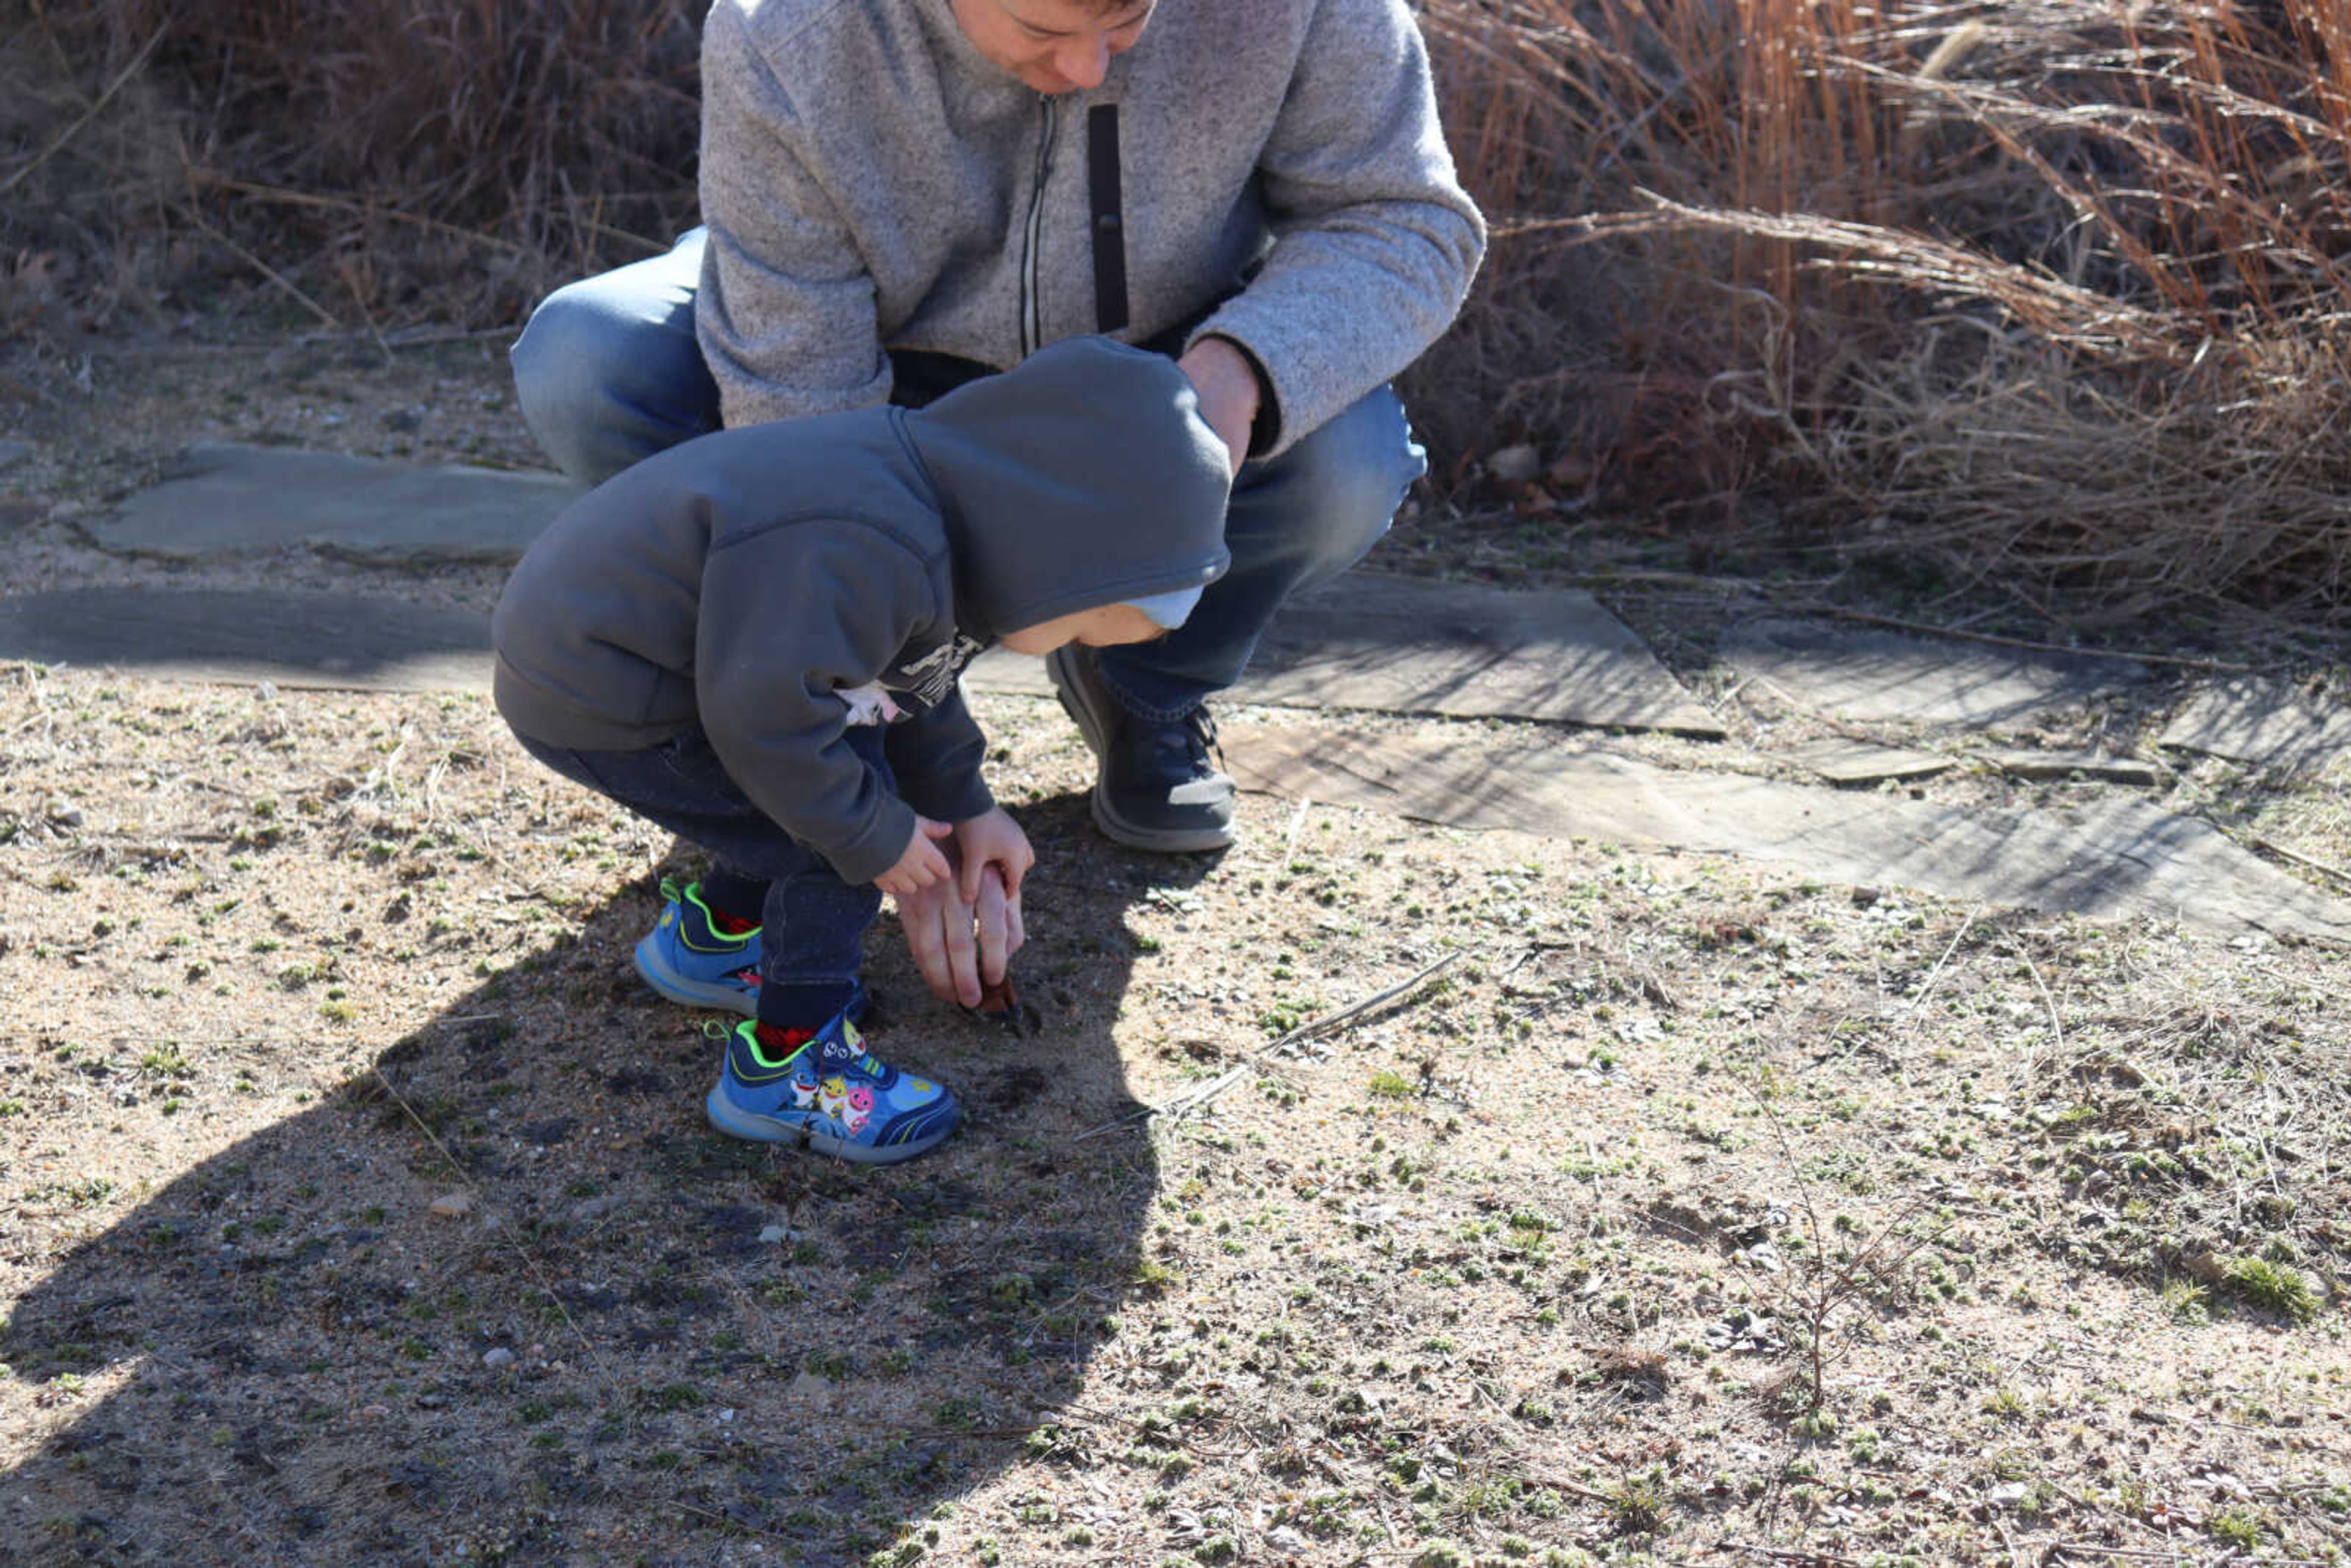
[{"label": "dry brown brush on both sides behind the crouching man", "polygon": [[[2337,0],[1422,19],[1498,230],[1411,378],[1441,484],[1533,442],[1580,508],[1773,515],[2074,625],[2344,618]],[[691,221],[696,31],[682,0],[0,9],[0,327],[237,289],[513,324]]]}]

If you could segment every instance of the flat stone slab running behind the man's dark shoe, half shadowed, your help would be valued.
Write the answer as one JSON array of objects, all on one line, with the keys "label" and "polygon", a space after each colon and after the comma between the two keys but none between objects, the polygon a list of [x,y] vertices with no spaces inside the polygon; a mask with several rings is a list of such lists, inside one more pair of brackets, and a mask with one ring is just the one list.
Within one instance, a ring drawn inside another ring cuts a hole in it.
[{"label": "flat stone slab running behind the man's dark shoe, half shadowed", "polygon": [[[978,691],[1051,696],[1044,661],[980,658]],[[1723,733],[1587,592],[1347,574],[1281,609],[1234,701]]]}]

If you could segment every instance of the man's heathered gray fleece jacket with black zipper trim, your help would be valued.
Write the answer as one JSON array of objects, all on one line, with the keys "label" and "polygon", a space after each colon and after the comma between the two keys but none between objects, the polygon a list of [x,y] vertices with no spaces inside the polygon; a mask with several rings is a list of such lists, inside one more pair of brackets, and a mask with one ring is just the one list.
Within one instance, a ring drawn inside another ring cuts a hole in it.
[{"label": "man's heathered gray fleece jacket with black zipper trim", "polygon": [[1420,357],[1486,247],[1406,0],[1159,0],[1053,99],[950,0],[717,0],[701,200],[726,425],[882,402],[884,348],[1215,334],[1272,393],[1267,456]]}]

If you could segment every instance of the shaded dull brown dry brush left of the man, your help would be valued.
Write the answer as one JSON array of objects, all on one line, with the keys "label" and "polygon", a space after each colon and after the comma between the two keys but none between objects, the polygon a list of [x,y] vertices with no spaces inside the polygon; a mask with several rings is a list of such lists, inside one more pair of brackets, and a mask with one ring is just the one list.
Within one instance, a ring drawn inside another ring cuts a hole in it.
[{"label": "shaded dull brown dry brush left of the man", "polygon": [[679,0],[35,0],[0,38],[0,244],[52,259],[19,315],[242,277],[336,327],[510,322],[691,223]]}]

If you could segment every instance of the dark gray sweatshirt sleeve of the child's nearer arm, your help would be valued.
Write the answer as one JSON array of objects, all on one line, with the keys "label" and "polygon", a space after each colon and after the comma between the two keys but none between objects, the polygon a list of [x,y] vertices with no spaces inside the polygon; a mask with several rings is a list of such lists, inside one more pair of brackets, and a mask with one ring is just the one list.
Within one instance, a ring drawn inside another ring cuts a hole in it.
[{"label": "dark gray sweatshirt sleeve of the child's nearer arm", "polygon": [[839,691],[872,682],[912,630],[936,623],[936,595],[922,557],[870,527],[792,529],[790,583],[745,569],[729,545],[710,552],[696,703],[743,795],[844,882],[872,882],[905,853],[915,809],[849,748]]}]

